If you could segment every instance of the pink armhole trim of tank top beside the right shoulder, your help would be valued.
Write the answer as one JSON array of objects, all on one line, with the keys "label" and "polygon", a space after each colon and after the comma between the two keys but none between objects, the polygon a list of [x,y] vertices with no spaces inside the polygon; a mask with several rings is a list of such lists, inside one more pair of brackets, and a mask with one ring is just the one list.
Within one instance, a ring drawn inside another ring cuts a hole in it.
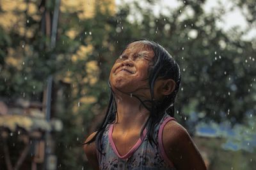
[{"label": "pink armhole trim of tank top beside the right shoulder", "polygon": [[[158,144],[159,144],[159,150],[160,154],[163,157],[163,159],[171,166],[174,167],[173,162],[168,158],[166,155],[166,152],[164,151],[164,145],[163,145],[163,130],[164,126],[170,121],[170,120],[175,120],[173,117],[168,117],[166,120],[163,121],[163,123],[159,127],[159,132],[158,132]],[[176,121],[176,120],[175,120]]]}]

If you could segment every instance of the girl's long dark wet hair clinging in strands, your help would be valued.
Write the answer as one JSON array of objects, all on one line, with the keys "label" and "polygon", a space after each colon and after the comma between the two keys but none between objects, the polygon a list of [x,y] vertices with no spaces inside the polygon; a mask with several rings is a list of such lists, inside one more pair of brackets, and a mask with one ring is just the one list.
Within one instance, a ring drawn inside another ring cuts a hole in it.
[{"label": "girl's long dark wet hair clinging in strands", "polygon": [[[145,108],[147,108],[148,111],[150,111],[150,115],[148,117],[148,120],[146,124],[141,129],[141,136],[142,132],[145,128],[147,128],[147,136],[148,141],[152,145],[154,143],[156,145],[156,139],[153,138],[154,135],[154,128],[156,125],[161,121],[164,114],[167,113],[171,117],[174,116],[174,103],[175,103],[175,97],[177,95],[177,92],[179,92],[180,87],[180,67],[175,62],[173,57],[168,53],[163,46],[159,45],[158,43],[154,41],[149,40],[136,40],[132,43],[142,43],[145,46],[149,46],[154,51],[154,58],[153,63],[148,67],[148,85],[150,89],[151,99],[142,100],[140,97],[136,95],[132,95],[136,97]],[[129,43],[130,45],[131,43]],[[126,47],[127,48],[127,47]],[[126,49],[125,48],[125,49]],[[164,99],[161,99],[161,101],[157,101],[154,99],[154,85],[156,83],[157,79],[172,79],[175,81],[175,89],[171,94],[168,96],[164,96]],[[111,85],[109,83],[109,87],[111,88]],[[127,94],[130,95],[130,94]],[[93,141],[97,141],[97,149],[99,152],[100,150],[100,140],[102,139],[102,135],[104,130],[106,129],[108,124],[114,124],[117,117],[116,112],[116,102],[114,93],[111,89],[111,94],[109,97],[109,103],[108,103],[108,109],[106,111],[106,115],[104,117],[104,120],[102,121],[102,124],[100,125],[98,131],[96,132],[95,136],[93,138],[84,143],[92,143]]]}]

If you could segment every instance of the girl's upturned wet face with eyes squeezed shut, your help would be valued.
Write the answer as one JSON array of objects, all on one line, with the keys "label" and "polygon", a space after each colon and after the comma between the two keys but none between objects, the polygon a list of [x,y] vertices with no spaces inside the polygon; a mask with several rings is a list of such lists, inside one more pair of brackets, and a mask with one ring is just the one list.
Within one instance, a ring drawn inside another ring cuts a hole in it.
[{"label": "girl's upturned wet face with eyes squeezed shut", "polygon": [[154,51],[150,46],[134,42],[127,46],[113,65],[109,81],[113,90],[122,92],[148,91],[148,67],[152,64]]}]

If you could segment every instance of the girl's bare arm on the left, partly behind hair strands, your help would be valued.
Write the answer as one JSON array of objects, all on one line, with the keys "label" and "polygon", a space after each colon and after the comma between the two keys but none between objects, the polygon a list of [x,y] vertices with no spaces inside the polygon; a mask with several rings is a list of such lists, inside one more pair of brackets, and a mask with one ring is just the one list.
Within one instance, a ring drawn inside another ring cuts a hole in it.
[{"label": "girl's bare arm on the left, partly behind hair strands", "polygon": [[[86,143],[87,141],[90,141],[90,139],[92,139],[95,134],[96,132],[91,134],[84,143]],[[97,147],[96,147],[95,141],[84,145],[83,148],[90,166],[92,166],[92,168],[95,170],[99,169],[99,164],[97,159]]]}]

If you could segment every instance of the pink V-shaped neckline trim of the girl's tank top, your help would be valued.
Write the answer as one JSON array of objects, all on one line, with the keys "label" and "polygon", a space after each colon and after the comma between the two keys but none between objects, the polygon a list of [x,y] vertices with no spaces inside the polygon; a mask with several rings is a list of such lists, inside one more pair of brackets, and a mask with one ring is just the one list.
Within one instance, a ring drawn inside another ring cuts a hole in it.
[{"label": "pink V-shaped neckline trim of the girl's tank top", "polygon": [[113,127],[114,127],[113,124],[111,124],[110,127],[109,127],[108,138],[109,138],[110,144],[111,144],[114,152],[116,153],[116,155],[120,159],[127,159],[127,158],[131,157],[131,155],[139,148],[139,146],[141,145],[142,141],[144,140],[144,138],[145,138],[145,136],[147,134],[147,129],[146,128],[144,129],[143,134],[142,134],[142,139],[139,138],[138,141],[136,142],[136,144],[131,148],[131,150],[129,150],[129,152],[127,152],[124,156],[121,156],[118,153],[118,150],[116,149],[116,145],[115,145],[115,143],[113,141],[113,138],[112,138]]}]

